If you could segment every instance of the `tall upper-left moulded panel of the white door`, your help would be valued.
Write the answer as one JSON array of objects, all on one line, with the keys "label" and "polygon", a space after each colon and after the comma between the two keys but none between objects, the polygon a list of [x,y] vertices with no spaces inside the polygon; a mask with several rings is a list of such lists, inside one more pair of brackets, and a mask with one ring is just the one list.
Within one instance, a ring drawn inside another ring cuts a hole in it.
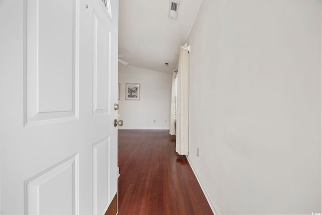
[{"label": "tall upper-left moulded panel of the white door", "polygon": [[77,118],[78,4],[25,2],[26,125]]}]

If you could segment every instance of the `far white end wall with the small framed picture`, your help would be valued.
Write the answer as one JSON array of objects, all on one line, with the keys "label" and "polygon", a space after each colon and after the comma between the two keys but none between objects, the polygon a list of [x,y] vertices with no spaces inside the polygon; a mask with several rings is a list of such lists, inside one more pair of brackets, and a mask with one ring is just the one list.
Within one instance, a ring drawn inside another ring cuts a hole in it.
[{"label": "far white end wall with the small framed picture", "polygon": [[[119,63],[119,83],[119,129],[169,129],[172,75]],[[139,101],[125,100],[126,83],[140,84]]]}]

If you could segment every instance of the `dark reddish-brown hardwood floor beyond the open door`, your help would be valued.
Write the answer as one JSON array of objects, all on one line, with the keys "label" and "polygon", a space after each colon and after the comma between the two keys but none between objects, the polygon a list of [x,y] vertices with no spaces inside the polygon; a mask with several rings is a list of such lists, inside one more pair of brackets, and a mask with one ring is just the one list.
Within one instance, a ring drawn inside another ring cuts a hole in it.
[{"label": "dark reddish-brown hardwood floor beyond the open door", "polygon": [[118,131],[118,214],[213,214],[169,130]]}]

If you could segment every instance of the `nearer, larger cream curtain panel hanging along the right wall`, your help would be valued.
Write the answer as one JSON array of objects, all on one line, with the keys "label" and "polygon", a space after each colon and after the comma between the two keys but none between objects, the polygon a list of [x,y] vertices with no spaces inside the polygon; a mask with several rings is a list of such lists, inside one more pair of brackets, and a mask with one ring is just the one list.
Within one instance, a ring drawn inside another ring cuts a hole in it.
[{"label": "nearer, larger cream curtain panel hanging along the right wall", "polygon": [[188,155],[189,140],[189,52],[186,49],[186,46],[180,47],[178,66],[176,152],[179,155]]}]

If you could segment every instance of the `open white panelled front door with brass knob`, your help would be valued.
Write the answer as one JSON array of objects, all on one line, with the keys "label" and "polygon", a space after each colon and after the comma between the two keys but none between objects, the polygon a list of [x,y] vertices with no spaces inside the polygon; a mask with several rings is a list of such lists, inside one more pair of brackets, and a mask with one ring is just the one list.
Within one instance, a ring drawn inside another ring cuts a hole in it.
[{"label": "open white panelled front door with brass knob", "polygon": [[117,49],[118,0],[0,0],[1,214],[104,214]]}]

